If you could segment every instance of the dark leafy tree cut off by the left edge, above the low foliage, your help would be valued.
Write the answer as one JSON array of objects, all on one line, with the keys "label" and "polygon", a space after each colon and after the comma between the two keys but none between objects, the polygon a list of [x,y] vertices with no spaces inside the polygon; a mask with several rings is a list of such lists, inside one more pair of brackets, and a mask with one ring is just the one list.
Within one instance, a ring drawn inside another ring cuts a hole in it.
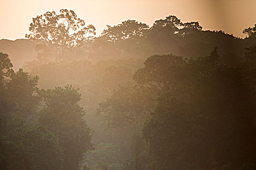
[{"label": "dark leafy tree cut off by the left edge, above the low foliage", "polygon": [[33,117],[37,106],[38,76],[31,76],[21,68],[14,72],[8,54],[0,53],[0,113],[19,115],[22,119]]}]

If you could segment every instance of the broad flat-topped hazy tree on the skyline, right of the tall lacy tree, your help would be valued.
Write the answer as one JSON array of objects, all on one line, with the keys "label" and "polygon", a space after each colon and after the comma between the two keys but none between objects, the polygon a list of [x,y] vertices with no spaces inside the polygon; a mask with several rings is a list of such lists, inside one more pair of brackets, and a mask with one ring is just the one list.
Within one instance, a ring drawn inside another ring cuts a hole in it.
[{"label": "broad flat-topped hazy tree on the skyline, right of the tall lacy tree", "polygon": [[141,40],[149,30],[145,23],[125,20],[121,24],[109,26],[92,43],[90,58],[121,58],[140,56]]}]

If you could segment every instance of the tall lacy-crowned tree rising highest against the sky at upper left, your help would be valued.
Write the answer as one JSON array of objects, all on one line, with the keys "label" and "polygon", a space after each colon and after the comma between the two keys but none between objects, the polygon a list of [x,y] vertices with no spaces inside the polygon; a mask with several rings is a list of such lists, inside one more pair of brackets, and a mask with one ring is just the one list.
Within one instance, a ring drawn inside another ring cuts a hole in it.
[{"label": "tall lacy-crowned tree rising highest against the sky at upper left", "polygon": [[53,11],[34,17],[29,27],[30,34],[25,35],[39,40],[35,49],[41,61],[64,60],[68,57],[66,51],[69,48],[82,45],[86,35],[95,34],[94,26],[85,26],[84,20],[74,11],[61,9],[59,12],[58,15]]}]

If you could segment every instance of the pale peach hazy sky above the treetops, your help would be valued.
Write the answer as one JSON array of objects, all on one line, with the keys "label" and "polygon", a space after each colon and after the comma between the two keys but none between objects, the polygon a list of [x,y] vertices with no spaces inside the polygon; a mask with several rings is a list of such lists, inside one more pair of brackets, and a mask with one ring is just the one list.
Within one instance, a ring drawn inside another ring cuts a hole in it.
[{"label": "pale peach hazy sky above the treetops", "polygon": [[135,19],[151,26],[169,15],[240,37],[256,23],[256,0],[0,0],[0,39],[24,38],[32,17],[62,8],[93,24],[98,34],[106,24]]}]

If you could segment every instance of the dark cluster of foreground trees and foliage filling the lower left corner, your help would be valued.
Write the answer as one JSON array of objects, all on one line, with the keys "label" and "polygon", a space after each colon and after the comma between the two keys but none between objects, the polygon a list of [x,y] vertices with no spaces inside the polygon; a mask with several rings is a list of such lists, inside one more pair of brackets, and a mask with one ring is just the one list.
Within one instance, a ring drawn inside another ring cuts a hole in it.
[{"label": "dark cluster of foreground trees and foliage filling the lower left corner", "polygon": [[92,147],[78,90],[69,85],[39,90],[38,76],[21,68],[14,72],[8,55],[2,56],[0,168],[78,168],[82,154]]}]

